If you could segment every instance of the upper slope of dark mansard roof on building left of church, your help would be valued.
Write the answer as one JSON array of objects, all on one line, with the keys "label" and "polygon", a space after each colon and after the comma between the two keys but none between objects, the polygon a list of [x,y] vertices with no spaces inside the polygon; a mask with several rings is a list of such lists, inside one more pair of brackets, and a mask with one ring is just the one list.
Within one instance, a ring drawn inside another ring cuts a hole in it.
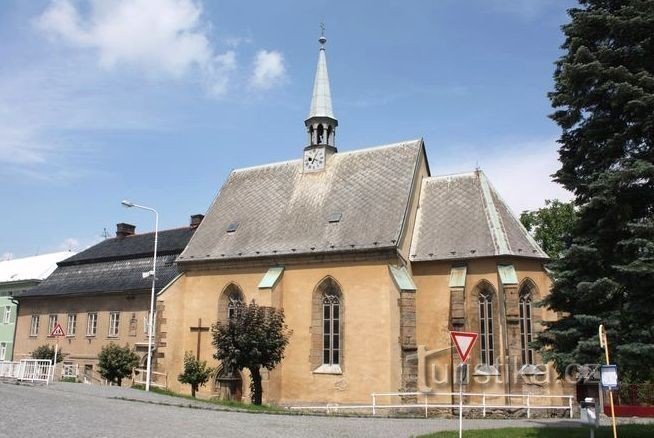
[{"label": "upper slope of dark mansard roof on building left of church", "polygon": [[[195,231],[194,228],[176,228],[159,232],[157,254],[179,254],[182,252]],[[106,239],[97,245],[77,253],[73,257],[59,263],[66,266],[88,263],[99,260],[118,260],[136,258],[152,254],[154,248],[154,233],[135,234],[123,238]]]}]

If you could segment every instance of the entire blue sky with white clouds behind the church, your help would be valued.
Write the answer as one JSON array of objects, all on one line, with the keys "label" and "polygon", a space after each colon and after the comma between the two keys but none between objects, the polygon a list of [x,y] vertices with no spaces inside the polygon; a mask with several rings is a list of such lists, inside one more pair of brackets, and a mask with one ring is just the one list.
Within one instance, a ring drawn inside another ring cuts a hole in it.
[{"label": "entire blue sky with white clouds behind the church", "polygon": [[337,146],[423,137],[515,212],[550,181],[546,94],[572,1],[5,1],[0,257],[82,249],[204,213],[229,171],[299,158],[326,25]]}]

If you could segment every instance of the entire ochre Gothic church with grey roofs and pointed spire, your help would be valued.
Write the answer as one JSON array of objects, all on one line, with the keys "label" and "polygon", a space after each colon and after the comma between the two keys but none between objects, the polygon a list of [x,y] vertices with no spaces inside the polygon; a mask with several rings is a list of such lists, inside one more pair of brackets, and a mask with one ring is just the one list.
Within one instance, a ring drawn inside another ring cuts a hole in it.
[{"label": "entire ochre Gothic church with grey roofs and pointed spire", "polygon": [[546,254],[483,172],[431,176],[421,139],[338,152],[325,42],[301,158],[233,171],[178,257],[157,302],[157,368],[176,376],[191,351],[219,368],[201,395],[247,400],[247,371],[216,363],[208,328],[254,300],[292,330],[263,372],[265,403],[450,392],[451,330],[479,333],[466,391],[569,392],[529,348],[556,317],[534,305],[551,286]]}]

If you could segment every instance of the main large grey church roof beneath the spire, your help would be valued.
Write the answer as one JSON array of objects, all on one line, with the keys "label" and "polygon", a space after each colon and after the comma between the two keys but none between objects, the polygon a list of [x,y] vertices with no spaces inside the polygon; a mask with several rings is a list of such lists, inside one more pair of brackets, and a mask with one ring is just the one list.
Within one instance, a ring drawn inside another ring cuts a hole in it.
[{"label": "main large grey church roof beneath the spire", "polygon": [[[180,262],[394,248],[422,140],[233,171]],[[230,231],[233,230],[233,231]]]}]

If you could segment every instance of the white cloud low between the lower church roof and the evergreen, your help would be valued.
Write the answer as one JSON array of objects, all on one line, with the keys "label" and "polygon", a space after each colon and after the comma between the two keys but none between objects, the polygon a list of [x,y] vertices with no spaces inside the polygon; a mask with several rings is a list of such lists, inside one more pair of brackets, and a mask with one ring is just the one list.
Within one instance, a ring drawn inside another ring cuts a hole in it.
[{"label": "white cloud low between the lower church roof and the evergreen", "polygon": [[[432,174],[465,172],[479,166],[516,214],[541,208],[546,199],[572,199],[572,194],[550,176],[561,166],[553,139],[507,141],[502,147],[477,147],[474,152],[466,146],[460,149],[461,154],[453,154],[456,162],[438,163],[433,166]],[[473,157],[479,157],[479,151],[486,151],[485,157],[490,158],[475,160]]]}]

